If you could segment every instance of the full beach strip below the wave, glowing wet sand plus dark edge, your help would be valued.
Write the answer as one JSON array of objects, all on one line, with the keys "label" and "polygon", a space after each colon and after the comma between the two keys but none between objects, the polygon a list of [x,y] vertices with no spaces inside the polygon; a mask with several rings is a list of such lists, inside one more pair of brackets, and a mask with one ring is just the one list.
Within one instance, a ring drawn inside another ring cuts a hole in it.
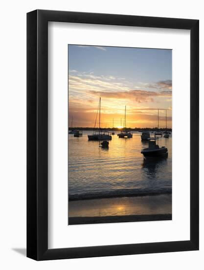
[{"label": "full beach strip below the wave, glowing wet sand plus dark edge", "polygon": [[78,200],[68,203],[69,225],[171,220],[171,214],[171,194]]}]

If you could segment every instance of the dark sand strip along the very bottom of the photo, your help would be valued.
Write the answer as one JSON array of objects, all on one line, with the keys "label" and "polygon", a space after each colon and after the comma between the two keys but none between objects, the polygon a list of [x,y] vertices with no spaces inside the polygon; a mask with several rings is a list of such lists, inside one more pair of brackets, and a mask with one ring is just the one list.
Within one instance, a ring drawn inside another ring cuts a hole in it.
[{"label": "dark sand strip along the very bottom of the photo", "polygon": [[156,215],[131,215],[131,216],[77,216],[77,217],[69,217],[68,225],[157,221],[157,220],[172,220],[172,215],[156,214]]}]

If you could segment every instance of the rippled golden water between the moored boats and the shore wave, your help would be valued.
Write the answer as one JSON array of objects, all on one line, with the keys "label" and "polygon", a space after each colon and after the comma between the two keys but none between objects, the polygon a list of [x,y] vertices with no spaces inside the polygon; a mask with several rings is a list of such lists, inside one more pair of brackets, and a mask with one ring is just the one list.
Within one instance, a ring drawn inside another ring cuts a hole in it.
[{"label": "rippled golden water between the moored boats and the shore wave", "polygon": [[[159,138],[159,147],[168,148],[168,158],[144,161],[140,154],[148,142],[140,133],[133,138],[112,135],[109,148],[98,141],[88,141],[89,131],[82,137],[68,135],[69,199],[108,198],[131,194],[169,193],[172,186],[172,138]],[[153,135],[153,134],[151,134]]]}]

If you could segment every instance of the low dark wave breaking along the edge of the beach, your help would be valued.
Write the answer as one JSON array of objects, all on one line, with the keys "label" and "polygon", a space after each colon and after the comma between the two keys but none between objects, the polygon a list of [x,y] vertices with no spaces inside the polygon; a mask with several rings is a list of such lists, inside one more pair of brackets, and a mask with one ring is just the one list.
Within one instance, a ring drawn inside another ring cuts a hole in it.
[{"label": "low dark wave breaking along the edge of the beach", "polygon": [[136,196],[151,196],[159,194],[171,194],[172,189],[116,189],[111,191],[102,192],[90,192],[81,194],[69,194],[69,201],[78,200],[91,200],[91,199],[102,199],[102,198],[116,198],[116,197],[136,197]]}]

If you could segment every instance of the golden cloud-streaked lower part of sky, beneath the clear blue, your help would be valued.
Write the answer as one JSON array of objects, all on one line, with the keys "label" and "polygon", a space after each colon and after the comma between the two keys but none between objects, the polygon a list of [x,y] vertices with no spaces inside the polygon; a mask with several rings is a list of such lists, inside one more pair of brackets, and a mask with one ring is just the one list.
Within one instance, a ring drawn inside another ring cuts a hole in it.
[{"label": "golden cloud-streaked lower part of sky, beneath the clear blue", "polygon": [[[131,127],[154,127],[157,122],[157,108],[160,116],[165,118],[165,108],[171,106],[171,82],[140,83],[136,88],[135,81],[113,75],[95,75],[93,70],[79,72],[69,70],[69,115],[75,119],[75,125],[93,126],[98,108],[99,97],[102,97],[102,124],[116,125],[124,117],[127,105],[128,123]],[[151,88],[147,87],[151,85]],[[152,86],[155,86],[152,88]],[[162,111],[163,110],[163,111]],[[168,112],[171,121],[171,112]],[[163,122],[163,118],[160,119]],[[118,122],[118,123],[117,123]],[[110,123],[110,124],[109,124]],[[164,121],[165,124],[165,121]]]}]

